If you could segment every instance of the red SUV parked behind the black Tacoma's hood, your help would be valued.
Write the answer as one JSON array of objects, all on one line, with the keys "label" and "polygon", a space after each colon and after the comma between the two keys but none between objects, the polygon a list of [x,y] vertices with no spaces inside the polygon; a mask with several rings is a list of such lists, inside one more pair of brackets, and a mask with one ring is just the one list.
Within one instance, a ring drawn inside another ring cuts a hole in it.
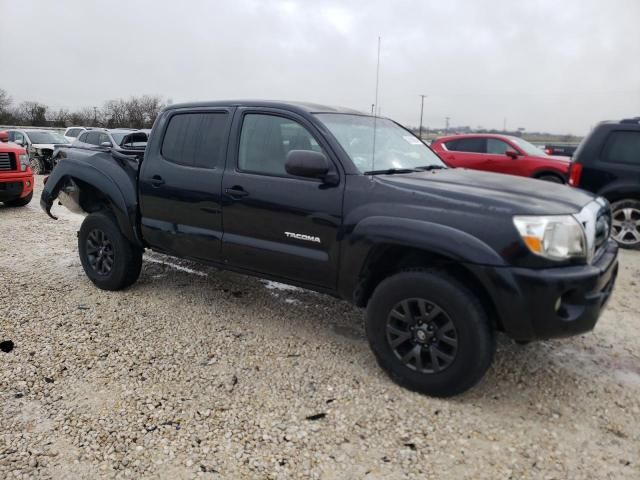
[{"label": "red SUV parked behind the black Tacoma's hood", "polygon": [[431,148],[450,167],[556,183],[566,183],[569,173],[569,158],[551,157],[526,140],[510,135],[451,135],[434,140]]}]

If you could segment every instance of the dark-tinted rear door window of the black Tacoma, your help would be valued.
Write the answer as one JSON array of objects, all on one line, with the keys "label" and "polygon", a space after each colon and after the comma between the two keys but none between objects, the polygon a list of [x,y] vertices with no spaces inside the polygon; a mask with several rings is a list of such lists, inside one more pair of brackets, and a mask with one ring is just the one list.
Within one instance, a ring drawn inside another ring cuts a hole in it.
[{"label": "dark-tinted rear door window of the black Tacoma", "polygon": [[189,167],[224,165],[227,112],[180,113],[169,120],[162,141],[162,156]]}]

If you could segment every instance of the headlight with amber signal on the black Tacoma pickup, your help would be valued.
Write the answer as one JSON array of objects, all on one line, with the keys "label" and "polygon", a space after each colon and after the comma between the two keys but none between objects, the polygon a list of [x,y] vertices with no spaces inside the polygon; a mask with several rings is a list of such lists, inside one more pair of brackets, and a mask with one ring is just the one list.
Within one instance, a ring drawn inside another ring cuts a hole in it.
[{"label": "headlight with amber signal on the black Tacoma pickup", "polygon": [[587,237],[572,215],[513,217],[525,245],[536,255],[550,260],[587,256]]}]

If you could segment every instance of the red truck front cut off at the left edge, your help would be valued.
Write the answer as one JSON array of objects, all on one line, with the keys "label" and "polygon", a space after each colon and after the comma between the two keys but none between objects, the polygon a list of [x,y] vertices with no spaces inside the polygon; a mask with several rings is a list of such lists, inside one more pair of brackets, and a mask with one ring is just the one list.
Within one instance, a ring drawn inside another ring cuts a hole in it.
[{"label": "red truck front cut off at the left edge", "polygon": [[23,207],[33,197],[33,172],[27,151],[8,140],[9,135],[0,132],[0,202]]}]

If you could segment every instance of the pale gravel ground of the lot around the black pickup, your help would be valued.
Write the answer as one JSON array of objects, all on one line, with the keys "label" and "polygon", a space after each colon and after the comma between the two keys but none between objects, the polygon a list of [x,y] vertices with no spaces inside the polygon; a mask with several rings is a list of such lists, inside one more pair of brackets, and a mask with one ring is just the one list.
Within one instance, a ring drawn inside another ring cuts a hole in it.
[{"label": "pale gravel ground of the lot around the black pickup", "polygon": [[0,478],[640,478],[640,252],[594,332],[437,400],[342,301],[154,253],[100,291],[54,211],[0,206]]}]

